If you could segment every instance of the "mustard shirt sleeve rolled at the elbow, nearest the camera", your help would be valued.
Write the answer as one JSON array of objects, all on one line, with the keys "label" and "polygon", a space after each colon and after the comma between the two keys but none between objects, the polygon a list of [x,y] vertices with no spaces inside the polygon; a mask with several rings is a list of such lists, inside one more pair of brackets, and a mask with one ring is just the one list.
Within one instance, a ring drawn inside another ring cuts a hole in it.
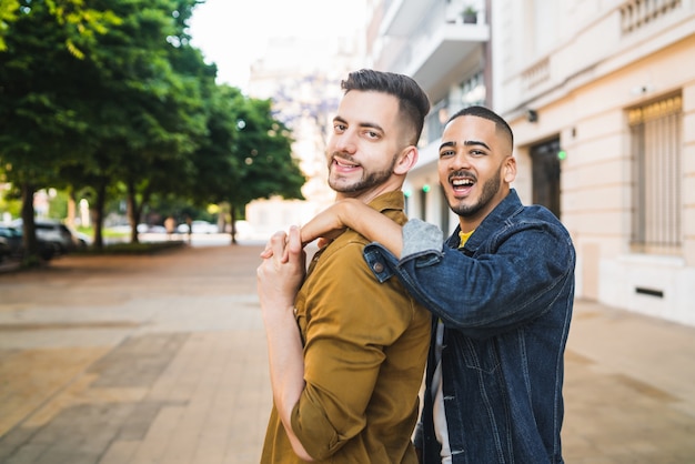
[{"label": "mustard shirt sleeve rolled at the elbow, nearest the camera", "polygon": [[305,324],[306,386],[292,412],[292,428],[316,460],[330,457],[364,428],[383,347],[412,319],[402,306],[406,295],[374,279],[363,248],[352,242],[324,255],[321,278],[305,283],[310,316],[300,325]]}]

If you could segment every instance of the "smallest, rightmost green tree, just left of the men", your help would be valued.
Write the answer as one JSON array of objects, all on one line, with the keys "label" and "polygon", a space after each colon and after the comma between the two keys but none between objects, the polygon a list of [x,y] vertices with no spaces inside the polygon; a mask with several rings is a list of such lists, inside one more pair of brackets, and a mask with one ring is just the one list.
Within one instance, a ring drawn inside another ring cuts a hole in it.
[{"label": "smallest, rightmost green tree, just left of the men", "polygon": [[208,137],[195,151],[192,198],[230,204],[232,243],[238,213],[252,200],[302,199],[305,182],[292,158],[289,130],[272,117],[269,100],[229,85],[208,88]]}]

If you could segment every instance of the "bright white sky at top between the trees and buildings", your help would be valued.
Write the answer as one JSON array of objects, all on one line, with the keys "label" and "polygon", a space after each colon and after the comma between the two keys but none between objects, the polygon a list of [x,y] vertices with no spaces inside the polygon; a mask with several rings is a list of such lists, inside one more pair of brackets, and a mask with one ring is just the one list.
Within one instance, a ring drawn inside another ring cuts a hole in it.
[{"label": "bright white sky at top between the trees and buildings", "polygon": [[218,65],[218,81],[245,89],[249,67],[273,37],[316,37],[354,30],[364,10],[338,0],[207,0],[190,21],[191,42]]}]

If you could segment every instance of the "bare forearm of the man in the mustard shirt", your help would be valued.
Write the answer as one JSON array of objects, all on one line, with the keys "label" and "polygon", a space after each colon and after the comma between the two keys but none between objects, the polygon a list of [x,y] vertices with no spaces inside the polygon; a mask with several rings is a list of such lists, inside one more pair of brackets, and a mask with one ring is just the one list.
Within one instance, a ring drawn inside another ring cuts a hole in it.
[{"label": "bare forearm of the man in the mustard shirt", "polygon": [[296,330],[292,309],[282,317],[265,320],[268,355],[273,401],[292,448],[304,461],[313,461],[292,430],[292,410],[304,390],[302,340]]}]

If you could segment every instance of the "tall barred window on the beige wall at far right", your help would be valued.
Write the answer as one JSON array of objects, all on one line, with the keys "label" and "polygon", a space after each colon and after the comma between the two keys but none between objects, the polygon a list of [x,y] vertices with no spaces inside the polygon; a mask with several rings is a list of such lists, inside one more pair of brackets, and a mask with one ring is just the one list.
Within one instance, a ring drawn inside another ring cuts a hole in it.
[{"label": "tall barred window on the beige wall at far right", "polygon": [[682,100],[674,95],[627,113],[634,165],[632,243],[642,252],[681,246]]}]

